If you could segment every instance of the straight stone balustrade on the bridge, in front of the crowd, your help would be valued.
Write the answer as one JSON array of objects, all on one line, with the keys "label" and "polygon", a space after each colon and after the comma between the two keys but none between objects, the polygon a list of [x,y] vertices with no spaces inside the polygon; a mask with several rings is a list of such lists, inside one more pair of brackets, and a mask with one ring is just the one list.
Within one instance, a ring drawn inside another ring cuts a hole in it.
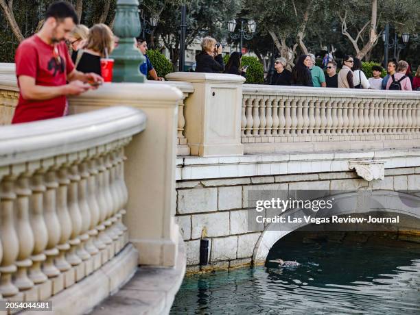
[{"label": "straight stone balustrade on the bridge, in front of the crowd", "polygon": [[314,142],[420,138],[419,92],[244,85],[242,93],[246,153],[274,152],[275,142],[306,142],[310,148]]}]

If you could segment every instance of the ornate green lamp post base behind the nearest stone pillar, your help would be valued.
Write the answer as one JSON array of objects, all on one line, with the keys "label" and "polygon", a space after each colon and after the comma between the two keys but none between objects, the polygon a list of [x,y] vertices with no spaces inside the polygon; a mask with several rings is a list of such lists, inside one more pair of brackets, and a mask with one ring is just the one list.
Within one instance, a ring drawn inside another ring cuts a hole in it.
[{"label": "ornate green lamp post base behind the nearest stone pillar", "polygon": [[141,32],[139,20],[139,1],[118,0],[115,13],[114,34],[119,37],[118,47],[110,55],[114,58],[113,82],[139,82],[147,81],[140,73],[139,64],[145,58],[137,49],[135,37]]}]

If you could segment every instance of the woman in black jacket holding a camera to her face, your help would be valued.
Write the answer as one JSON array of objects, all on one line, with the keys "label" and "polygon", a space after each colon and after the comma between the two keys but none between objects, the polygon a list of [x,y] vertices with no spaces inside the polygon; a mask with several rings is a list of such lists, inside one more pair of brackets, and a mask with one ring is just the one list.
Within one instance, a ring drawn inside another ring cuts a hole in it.
[{"label": "woman in black jacket holding a camera to her face", "polygon": [[209,36],[202,39],[202,51],[196,55],[196,72],[221,73],[224,71],[222,45],[216,47],[216,40]]}]

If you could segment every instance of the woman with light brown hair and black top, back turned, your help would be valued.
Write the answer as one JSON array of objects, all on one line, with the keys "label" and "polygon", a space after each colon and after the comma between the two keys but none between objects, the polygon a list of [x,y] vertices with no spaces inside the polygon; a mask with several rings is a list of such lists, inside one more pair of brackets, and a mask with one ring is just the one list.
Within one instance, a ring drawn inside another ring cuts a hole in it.
[{"label": "woman with light brown hair and black top, back turned", "polygon": [[101,58],[108,57],[114,48],[114,34],[105,24],[95,24],[89,29],[86,44],[77,52],[75,68],[83,73],[101,75]]}]

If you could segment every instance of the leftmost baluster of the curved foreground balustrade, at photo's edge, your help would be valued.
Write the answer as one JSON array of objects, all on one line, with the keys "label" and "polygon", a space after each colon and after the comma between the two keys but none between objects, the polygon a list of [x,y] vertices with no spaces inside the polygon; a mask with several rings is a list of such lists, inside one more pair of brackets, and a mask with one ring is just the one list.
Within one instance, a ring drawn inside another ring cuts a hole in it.
[{"label": "leftmost baluster of the curved foreground balustrade, at photo's edge", "polygon": [[[0,175],[1,178],[1,175]],[[13,297],[19,290],[12,283],[16,272],[16,258],[19,255],[19,239],[14,229],[13,204],[16,194],[13,192],[15,178],[6,176],[0,182],[0,238],[3,257],[0,264],[0,294]]]}]

